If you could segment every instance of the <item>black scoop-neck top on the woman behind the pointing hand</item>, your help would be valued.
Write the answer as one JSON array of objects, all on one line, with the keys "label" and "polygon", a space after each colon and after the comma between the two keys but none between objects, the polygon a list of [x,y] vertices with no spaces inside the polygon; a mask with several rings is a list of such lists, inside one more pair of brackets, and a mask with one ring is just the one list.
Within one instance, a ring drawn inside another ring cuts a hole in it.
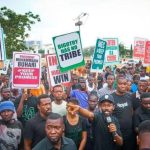
[{"label": "black scoop-neck top on the woman behind the pointing hand", "polygon": [[66,116],[63,118],[65,123],[65,137],[72,139],[77,148],[79,148],[82,139],[82,132],[87,131],[87,120],[79,116],[79,122],[76,125],[70,125]]}]

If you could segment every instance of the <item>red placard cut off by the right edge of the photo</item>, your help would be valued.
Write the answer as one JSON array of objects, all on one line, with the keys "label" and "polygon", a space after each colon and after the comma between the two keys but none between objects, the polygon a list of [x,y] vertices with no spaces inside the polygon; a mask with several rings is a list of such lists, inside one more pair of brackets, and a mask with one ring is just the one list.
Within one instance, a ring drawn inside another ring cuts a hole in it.
[{"label": "red placard cut off by the right edge of the photo", "polygon": [[150,65],[150,41],[147,41],[145,45],[144,63]]}]

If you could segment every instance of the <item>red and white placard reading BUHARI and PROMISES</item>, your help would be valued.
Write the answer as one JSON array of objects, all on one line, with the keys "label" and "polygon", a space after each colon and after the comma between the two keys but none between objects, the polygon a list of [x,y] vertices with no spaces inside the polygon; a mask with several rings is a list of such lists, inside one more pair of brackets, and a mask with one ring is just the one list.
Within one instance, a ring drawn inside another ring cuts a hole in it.
[{"label": "red and white placard reading BUHARI and PROMISES", "polygon": [[40,54],[13,53],[12,87],[38,88],[41,77]]}]

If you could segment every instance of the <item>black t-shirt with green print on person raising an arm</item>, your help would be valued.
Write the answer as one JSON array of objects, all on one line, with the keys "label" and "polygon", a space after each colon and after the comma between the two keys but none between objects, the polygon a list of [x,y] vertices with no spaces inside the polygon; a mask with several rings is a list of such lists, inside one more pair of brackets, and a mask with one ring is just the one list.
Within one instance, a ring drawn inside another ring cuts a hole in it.
[{"label": "black t-shirt with green print on person raising an arm", "polygon": [[[14,103],[16,110],[19,106],[20,100],[21,100],[21,97],[18,97]],[[18,120],[21,121],[23,126],[25,126],[26,121],[33,118],[37,112],[38,112],[37,97],[31,96],[27,100],[24,101],[22,115],[21,117],[18,118]]]}]

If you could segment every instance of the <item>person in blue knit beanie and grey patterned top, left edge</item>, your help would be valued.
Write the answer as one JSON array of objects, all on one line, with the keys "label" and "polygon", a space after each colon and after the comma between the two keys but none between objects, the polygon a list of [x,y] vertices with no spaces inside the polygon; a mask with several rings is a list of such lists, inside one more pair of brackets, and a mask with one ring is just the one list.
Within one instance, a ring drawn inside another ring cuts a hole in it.
[{"label": "person in blue knit beanie and grey patterned top, left edge", "polygon": [[0,103],[0,149],[22,150],[22,125],[13,119],[15,106],[11,101]]}]

